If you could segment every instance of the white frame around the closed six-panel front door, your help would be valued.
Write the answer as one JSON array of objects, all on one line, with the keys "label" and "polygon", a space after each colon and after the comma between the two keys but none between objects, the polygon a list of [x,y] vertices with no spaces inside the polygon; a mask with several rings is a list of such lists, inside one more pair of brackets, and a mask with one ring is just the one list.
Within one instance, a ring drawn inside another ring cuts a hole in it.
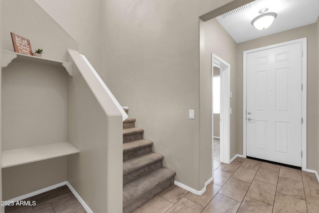
[{"label": "white frame around the closed six-panel front door", "polygon": [[294,43],[302,43],[302,170],[307,170],[307,38],[300,38],[296,40],[291,40],[287,42],[282,42],[278,44],[273,44],[269,46],[264,46],[256,49],[250,49],[243,52],[244,54],[244,68],[243,68],[243,156],[247,157],[247,128],[246,128],[246,100],[247,100],[247,54],[252,52],[257,52],[261,50],[271,49],[279,46],[285,46]]}]

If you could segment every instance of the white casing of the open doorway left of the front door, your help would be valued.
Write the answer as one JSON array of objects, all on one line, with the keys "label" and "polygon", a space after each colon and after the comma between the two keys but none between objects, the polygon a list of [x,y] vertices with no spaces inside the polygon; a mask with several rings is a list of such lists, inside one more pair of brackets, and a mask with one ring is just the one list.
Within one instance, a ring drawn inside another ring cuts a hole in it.
[{"label": "white casing of the open doorway left of the front door", "polygon": [[[214,165],[213,68],[220,69],[220,162],[230,163],[230,64],[211,53],[211,132],[212,165]],[[213,169],[214,172],[214,169]]]}]

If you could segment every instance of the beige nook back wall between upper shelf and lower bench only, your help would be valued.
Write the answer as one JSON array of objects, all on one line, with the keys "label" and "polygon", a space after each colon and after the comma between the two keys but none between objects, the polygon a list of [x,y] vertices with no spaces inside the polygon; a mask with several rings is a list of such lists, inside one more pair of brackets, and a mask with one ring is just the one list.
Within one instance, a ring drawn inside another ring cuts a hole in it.
[{"label": "beige nook back wall between upper shelf and lower bench only", "polygon": [[2,150],[66,141],[67,76],[20,59],[2,69]]}]

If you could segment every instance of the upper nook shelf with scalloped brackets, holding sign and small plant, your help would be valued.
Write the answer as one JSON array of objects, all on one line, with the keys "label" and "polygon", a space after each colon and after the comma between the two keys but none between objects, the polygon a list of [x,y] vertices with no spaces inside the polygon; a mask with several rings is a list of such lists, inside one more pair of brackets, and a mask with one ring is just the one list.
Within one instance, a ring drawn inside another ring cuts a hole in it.
[{"label": "upper nook shelf with scalloped brackets, holding sign and small plant", "polygon": [[6,50],[1,50],[1,51],[2,51],[1,67],[6,67],[7,65],[11,63],[12,60],[14,60],[15,58],[19,58],[22,60],[27,60],[27,61],[42,63],[42,64],[49,64],[49,65],[60,64],[66,69],[69,75],[73,76],[72,63],[69,63],[66,61],[52,60],[49,58],[37,57],[33,55],[26,55],[26,54],[6,51]]}]

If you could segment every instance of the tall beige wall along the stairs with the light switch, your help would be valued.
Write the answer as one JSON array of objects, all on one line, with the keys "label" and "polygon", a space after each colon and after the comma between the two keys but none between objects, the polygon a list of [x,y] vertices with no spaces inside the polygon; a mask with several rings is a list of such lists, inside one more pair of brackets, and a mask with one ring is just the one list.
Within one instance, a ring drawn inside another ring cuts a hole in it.
[{"label": "tall beige wall along the stairs with the light switch", "polygon": [[[164,167],[196,190],[211,177],[211,131],[206,131],[211,124],[202,123],[201,132],[199,124],[198,16],[230,1],[104,3],[106,83],[129,106],[136,126],[145,128],[144,138],[164,155]],[[188,118],[189,109],[195,119]]]}]

